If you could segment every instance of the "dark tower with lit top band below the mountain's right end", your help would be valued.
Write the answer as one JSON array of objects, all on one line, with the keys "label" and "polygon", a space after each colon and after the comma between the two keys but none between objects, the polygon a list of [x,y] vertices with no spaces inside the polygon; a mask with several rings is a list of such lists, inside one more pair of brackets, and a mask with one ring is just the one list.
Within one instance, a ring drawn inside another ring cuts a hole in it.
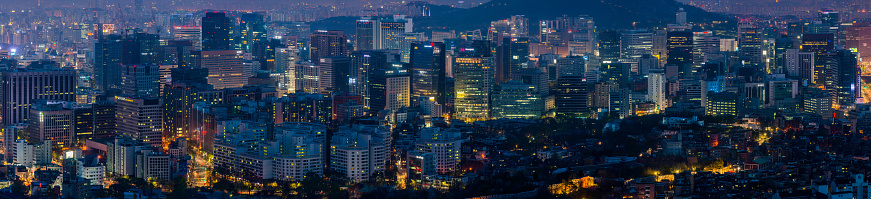
[{"label": "dark tower with lit top band below the mountain's right end", "polygon": [[667,50],[669,65],[676,65],[684,72],[685,77],[692,76],[686,68],[693,63],[693,33],[688,31],[668,32]]}]

